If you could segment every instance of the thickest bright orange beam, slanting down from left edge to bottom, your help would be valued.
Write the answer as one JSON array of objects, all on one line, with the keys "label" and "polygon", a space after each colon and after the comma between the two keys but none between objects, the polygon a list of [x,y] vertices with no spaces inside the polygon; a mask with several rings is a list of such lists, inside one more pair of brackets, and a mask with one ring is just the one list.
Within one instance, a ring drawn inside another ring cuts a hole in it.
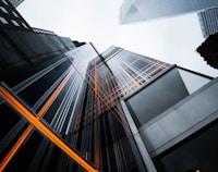
[{"label": "thickest bright orange beam, slanting down from left edge to bottom", "polygon": [[17,112],[20,112],[25,119],[27,119],[38,131],[53,142],[59,148],[61,148],[66,155],[69,155],[74,161],[82,165],[89,172],[98,172],[86,160],[78,156],[72,148],[63,143],[55,133],[52,133],[47,126],[45,126],[28,109],[26,109],[15,97],[13,97],[4,87],[0,86],[0,96],[2,96]]}]

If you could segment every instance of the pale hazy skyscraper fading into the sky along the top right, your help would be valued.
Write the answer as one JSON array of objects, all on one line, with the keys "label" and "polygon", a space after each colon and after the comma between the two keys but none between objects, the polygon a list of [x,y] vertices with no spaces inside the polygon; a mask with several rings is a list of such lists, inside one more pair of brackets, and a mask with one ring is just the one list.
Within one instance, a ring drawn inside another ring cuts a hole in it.
[{"label": "pale hazy skyscraper fading into the sky along the top right", "polygon": [[120,8],[121,24],[175,16],[218,7],[211,0],[125,0]]}]

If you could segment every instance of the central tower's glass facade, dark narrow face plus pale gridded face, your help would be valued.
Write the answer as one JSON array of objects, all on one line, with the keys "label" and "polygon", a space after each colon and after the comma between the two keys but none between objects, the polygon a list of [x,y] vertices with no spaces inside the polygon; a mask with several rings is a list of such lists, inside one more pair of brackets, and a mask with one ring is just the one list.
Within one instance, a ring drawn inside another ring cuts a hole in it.
[{"label": "central tower's glass facade, dark narrow face plus pale gridded face", "polygon": [[[140,153],[119,102],[170,65],[119,48],[112,51],[108,57],[101,54],[88,64],[87,87],[74,130],[77,142],[82,139],[81,151],[100,165],[100,171],[145,171],[142,160],[137,160]],[[143,62],[147,65],[138,65]]]}]

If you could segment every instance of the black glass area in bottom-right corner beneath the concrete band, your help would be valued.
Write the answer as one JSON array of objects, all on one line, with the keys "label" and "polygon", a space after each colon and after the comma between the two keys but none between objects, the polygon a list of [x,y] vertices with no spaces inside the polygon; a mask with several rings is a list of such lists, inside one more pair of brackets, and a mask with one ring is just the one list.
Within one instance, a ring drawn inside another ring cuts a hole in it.
[{"label": "black glass area in bottom-right corner beneath the concrete band", "polygon": [[[158,171],[217,171],[217,121],[154,159]],[[174,165],[171,165],[174,164]]]}]

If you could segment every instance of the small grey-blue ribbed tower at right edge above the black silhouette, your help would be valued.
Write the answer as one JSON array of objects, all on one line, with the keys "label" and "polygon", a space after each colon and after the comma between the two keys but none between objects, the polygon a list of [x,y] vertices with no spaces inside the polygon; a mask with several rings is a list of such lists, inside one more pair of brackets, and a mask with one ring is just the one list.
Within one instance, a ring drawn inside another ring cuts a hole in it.
[{"label": "small grey-blue ribbed tower at right edge above the black silhouette", "polygon": [[197,16],[205,38],[218,33],[218,8],[199,12]]}]

